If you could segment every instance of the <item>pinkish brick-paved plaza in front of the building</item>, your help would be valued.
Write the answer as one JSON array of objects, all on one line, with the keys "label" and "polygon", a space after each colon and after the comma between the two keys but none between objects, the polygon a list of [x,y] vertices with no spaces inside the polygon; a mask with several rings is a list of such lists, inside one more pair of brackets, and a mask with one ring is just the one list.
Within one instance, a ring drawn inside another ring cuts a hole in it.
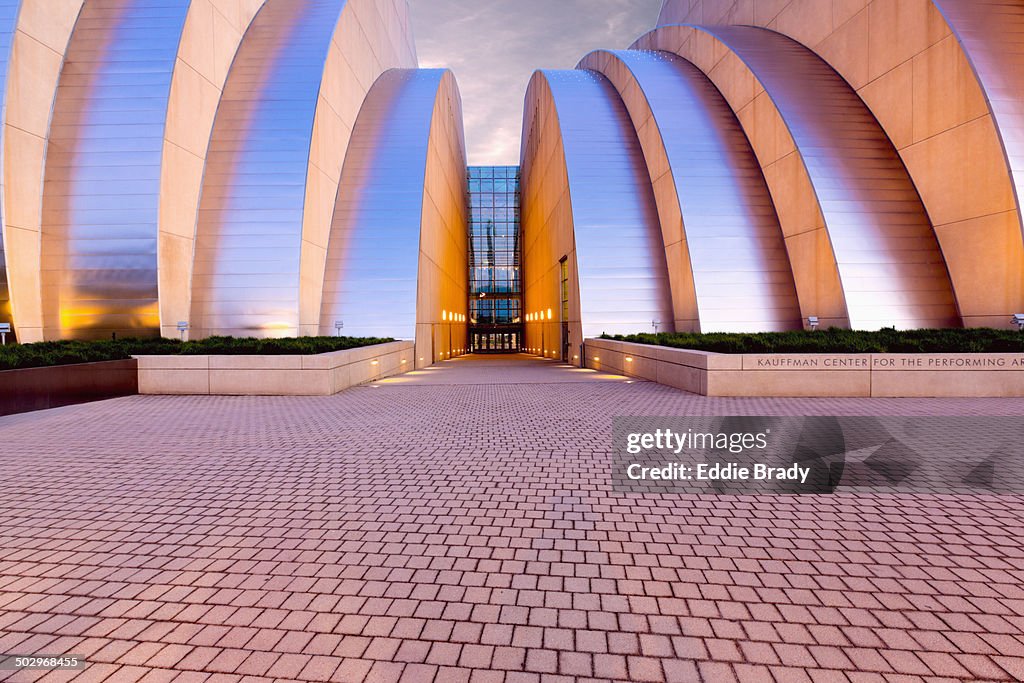
[{"label": "pinkish brick-paved plaza in front of the building", "polygon": [[0,653],[59,681],[1024,679],[1024,497],[627,496],[615,415],[721,399],[523,358],[314,398],[0,418]]}]

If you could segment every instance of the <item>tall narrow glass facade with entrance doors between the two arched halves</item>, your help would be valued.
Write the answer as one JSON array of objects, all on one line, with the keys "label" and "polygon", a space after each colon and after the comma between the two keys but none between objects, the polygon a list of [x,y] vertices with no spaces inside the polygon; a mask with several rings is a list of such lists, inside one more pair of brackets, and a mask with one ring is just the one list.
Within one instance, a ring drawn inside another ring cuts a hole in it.
[{"label": "tall narrow glass facade with entrance doors between the two arched halves", "polygon": [[469,334],[474,352],[518,351],[519,167],[471,166],[469,182]]}]

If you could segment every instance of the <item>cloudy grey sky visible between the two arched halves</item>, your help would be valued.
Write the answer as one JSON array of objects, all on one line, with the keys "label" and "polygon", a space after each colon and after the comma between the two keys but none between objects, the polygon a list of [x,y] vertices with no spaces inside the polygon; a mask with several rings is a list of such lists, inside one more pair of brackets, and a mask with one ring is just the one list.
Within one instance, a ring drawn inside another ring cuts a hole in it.
[{"label": "cloudy grey sky visible between the two arched halves", "polygon": [[518,164],[537,69],[572,69],[654,28],[662,0],[410,0],[420,66],[455,72],[472,165]]}]

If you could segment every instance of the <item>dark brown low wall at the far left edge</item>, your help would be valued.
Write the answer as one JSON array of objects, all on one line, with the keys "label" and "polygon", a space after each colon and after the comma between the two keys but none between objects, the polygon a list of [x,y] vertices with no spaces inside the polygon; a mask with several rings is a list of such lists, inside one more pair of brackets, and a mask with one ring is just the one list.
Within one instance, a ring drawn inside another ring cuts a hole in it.
[{"label": "dark brown low wall at the far left edge", "polygon": [[135,360],[0,371],[0,415],[138,393]]}]

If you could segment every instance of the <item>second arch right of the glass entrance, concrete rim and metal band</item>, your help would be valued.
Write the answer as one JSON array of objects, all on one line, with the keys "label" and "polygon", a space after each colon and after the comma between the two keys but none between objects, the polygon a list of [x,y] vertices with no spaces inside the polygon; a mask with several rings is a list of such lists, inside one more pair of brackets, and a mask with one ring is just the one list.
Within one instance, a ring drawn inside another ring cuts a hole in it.
[{"label": "second arch right of the glass entrance, concrete rim and metal band", "polygon": [[660,218],[677,331],[799,329],[801,311],[771,197],[728,103],[664,51],[598,50],[580,62],[623,98]]}]

